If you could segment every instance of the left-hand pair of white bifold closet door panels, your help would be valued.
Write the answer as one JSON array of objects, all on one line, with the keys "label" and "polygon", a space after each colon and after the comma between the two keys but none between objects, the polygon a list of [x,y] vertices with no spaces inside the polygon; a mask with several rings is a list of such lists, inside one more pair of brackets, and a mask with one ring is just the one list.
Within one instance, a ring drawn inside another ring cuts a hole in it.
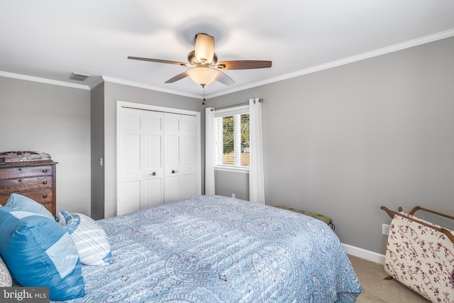
[{"label": "left-hand pair of white bifold closet door panels", "polygon": [[164,193],[164,115],[123,109],[118,170],[118,214],[162,204]]}]

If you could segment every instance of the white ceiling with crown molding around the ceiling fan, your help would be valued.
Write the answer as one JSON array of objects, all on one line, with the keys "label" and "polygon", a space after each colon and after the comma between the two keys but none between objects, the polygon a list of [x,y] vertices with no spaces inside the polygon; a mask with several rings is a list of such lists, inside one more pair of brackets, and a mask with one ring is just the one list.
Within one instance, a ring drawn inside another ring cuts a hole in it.
[{"label": "white ceiling with crown molding around the ceiling fan", "polygon": [[[452,0],[0,0],[0,76],[89,89],[100,76],[201,97],[187,62],[196,33],[213,35],[219,61],[272,60],[226,70],[215,97],[454,35]],[[91,75],[70,80],[72,72]]]}]

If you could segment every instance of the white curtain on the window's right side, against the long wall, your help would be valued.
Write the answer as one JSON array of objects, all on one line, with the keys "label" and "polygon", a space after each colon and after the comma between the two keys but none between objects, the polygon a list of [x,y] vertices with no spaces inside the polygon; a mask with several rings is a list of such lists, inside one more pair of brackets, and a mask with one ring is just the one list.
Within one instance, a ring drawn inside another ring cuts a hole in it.
[{"label": "white curtain on the window's right side, against the long wall", "polygon": [[260,98],[249,99],[250,162],[249,201],[265,204],[263,178],[262,103]]}]

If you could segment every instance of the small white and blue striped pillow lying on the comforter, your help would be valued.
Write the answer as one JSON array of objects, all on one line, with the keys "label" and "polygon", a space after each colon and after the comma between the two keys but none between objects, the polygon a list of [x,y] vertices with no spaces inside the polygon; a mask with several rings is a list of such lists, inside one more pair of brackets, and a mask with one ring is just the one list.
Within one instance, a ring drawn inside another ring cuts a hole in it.
[{"label": "small white and blue striped pillow lying on the comforter", "polygon": [[106,232],[96,221],[84,214],[67,211],[59,211],[57,221],[71,235],[82,264],[112,263],[111,245],[107,241]]}]

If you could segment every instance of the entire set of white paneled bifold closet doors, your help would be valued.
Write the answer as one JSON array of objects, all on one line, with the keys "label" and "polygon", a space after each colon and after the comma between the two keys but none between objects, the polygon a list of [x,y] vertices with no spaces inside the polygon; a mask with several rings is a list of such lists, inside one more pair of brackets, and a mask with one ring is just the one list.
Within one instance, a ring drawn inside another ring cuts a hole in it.
[{"label": "entire set of white paneled bifold closet doors", "polygon": [[118,133],[118,215],[199,194],[196,116],[122,107]]}]

